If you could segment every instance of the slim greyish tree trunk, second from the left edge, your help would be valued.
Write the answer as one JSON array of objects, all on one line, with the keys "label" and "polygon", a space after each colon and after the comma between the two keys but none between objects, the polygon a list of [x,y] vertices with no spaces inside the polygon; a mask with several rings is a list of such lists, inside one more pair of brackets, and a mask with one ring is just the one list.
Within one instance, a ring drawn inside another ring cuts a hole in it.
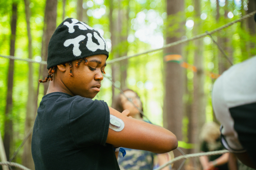
[{"label": "slim greyish tree trunk, second from the left edge", "polygon": [[[30,0],[24,0],[25,3],[25,12],[26,12],[26,29],[27,29],[27,36],[28,36],[28,52],[29,58],[32,59],[32,37],[30,33]],[[34,123],[34,112],[35,112],[35,105],[33,105],[35,101],[35,94],[34,94],[34,86],[33,86],[33,65],[32,63],[28,63],[29,66],[29,73],[28,73],[28,98],[26,104],[26,122],[25,122],[25,135],[30,131],[31,127]],[[32,135],[28,138],[24,145],[23,151],[23,165],[27,168],[34,170],[34,161],[32,158],[31,152],[31,142],[32,142]]]}]

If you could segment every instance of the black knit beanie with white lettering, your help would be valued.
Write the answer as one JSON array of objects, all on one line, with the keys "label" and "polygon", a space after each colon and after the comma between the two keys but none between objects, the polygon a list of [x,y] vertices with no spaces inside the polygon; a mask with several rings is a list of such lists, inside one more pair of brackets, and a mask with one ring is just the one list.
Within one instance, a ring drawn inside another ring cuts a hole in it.
[{"label": "black knit beanie with white lettering", "polygon": [[49,42],[47,69],[96,54],[109,57],[106,40],[86,23],[67,18],[56,28]]}]

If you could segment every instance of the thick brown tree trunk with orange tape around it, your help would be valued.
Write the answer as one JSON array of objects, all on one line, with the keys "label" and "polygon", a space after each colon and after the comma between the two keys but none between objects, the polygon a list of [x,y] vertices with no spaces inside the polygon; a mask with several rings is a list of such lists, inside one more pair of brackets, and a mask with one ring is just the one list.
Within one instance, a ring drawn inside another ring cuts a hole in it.
[{"label": "thick brown tree trunk with orange tape around it", "polygon": [[[168,18],[177,15],[178,12],[184,11],[184,0],[167,0]],[[168,20],[167,18],[167,20]],[[172,27],[172,23],[168,23]],[[183,31],[182,27],[179,31]],[[166,37],[166,43],[181,40],[181,37]],[[169,47],[165,53],[182,54],[182,45]],[[164,126],[176,135],[178,141],[182,141],[182,97],[183,97],[183,70],[177,62],[167,62],[165,65],[165,100],[164,100]],[[174,150],[175,156],[181,155],[177,150]],[[182,160],[174,163],[173,169],[178,169]],[[184,169],[184,167],[183,167]]]}]

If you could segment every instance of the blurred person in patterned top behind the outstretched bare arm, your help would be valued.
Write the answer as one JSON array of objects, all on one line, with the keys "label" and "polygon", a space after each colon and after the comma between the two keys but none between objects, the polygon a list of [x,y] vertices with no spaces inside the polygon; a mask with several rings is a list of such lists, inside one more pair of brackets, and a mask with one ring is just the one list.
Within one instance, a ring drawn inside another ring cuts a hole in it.
[{"label": "blurred person in patterned top behind the outstretched bare arm", "polygon": [[[143,111],[142,102],[138,94],[131,90],[124,90],[124,95],[129,98],[139,109]],[[130,111],[129,116],[132,116],[134,119],[143,120],[143,115],[139,112],[136,107],[124,97],[124,95],[119,94],[115,103],[113,104],[113,108],[117,111],[124,111],[128,109]],[[148,121],[145,121],[149,123]],[[163,165],[171,159],[169,153],[164,154],[155,154],[149,151],[136,150],[130,148],[124,148],[126,151],[126,155],[123,157],[122,154],[118,155],[118,164],[120,170],[153,170],[153,168]],[[154,167],[154,162],[157,160],[157,165]],[[170,170],[170,167],[165,167],[163,170]]]}]

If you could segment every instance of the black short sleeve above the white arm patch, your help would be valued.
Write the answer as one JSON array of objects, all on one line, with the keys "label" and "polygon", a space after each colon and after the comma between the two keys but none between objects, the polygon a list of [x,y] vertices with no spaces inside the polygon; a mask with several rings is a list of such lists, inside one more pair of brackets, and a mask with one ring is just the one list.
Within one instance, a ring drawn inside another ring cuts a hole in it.
[{"label": "black short sleeve above the white arm patch", "polygon": [[109,130],[108,105],[79,96],[72,103],[68,123],[78,148],[105,145]]}]

